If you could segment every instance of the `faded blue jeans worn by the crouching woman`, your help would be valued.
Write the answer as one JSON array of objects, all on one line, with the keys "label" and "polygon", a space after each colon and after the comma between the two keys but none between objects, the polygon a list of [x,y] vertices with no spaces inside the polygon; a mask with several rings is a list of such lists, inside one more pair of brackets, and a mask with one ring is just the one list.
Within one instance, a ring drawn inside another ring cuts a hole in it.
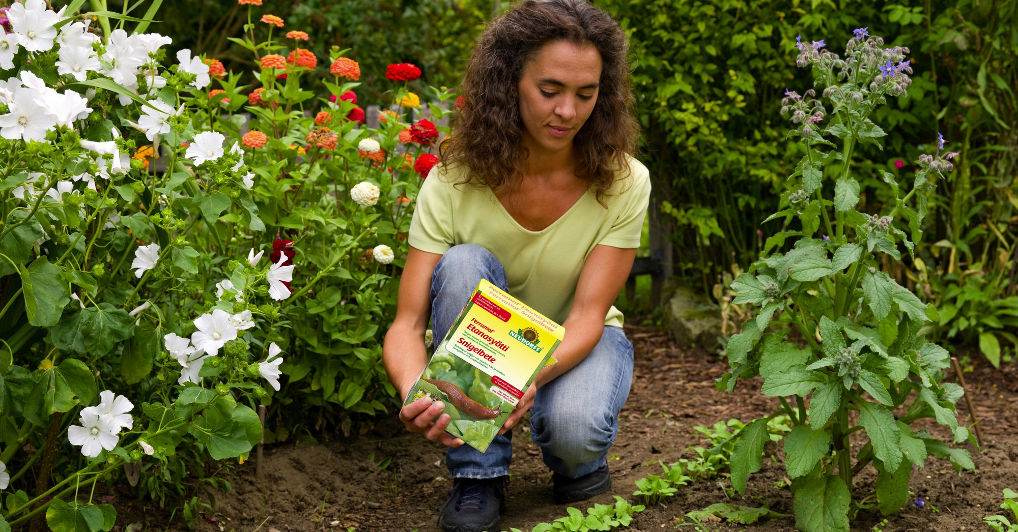
[{"label": "faded blue jeans worn by the crouching woman", "polygon": [[[482,246],[453,246],[439,260],[431,293],[436,345],[482,279],[508,292],[505,269]],[[530,437],[541,447],[545,464],[552,471],[577,478],[605,464],[632,376],[632,344],[622,329],[606,327],[586,358],[538,390],[530,409]],[[453,478],[508,475],[511,437],[512,431],[496,436],[485,453],[466,445],[450,448],[446,453],[450,474]]]}]

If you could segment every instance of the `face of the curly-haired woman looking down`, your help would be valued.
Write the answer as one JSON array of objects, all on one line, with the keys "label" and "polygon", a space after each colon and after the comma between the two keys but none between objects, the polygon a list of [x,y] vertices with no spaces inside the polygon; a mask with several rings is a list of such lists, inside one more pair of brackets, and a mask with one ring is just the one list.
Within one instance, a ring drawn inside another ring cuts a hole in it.
[{"label": "face of the curly-haired woman looking down", "polygon": [[548,43],[523,65],[519,115],[523,142],[531,155],[572,147],[573,137],[598,102],[601,54],[593,45]]}]

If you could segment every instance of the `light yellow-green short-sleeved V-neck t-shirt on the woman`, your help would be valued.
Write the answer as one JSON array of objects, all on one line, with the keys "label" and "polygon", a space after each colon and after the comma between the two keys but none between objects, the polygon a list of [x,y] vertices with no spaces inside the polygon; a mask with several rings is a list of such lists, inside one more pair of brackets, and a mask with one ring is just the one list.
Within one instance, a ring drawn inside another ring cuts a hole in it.
[{"label": "light yellow-green short-sleeved V-neck t-shirt on the woman", "polygon": [[[593,246],[639,247],[651,176],[641,163],[629,161],[629,175],[617,180],[611,195],[603,198],[607,209],[588,190],[543,231],[516,223],[491,188],[454,185],[464,170],[437,166],[417,195],[409,243],[440,254],[458,244],[485,247],[505,267],[510,294],[562,323]],[[622,327],[622,312],[612,306],[605,324]]]}]

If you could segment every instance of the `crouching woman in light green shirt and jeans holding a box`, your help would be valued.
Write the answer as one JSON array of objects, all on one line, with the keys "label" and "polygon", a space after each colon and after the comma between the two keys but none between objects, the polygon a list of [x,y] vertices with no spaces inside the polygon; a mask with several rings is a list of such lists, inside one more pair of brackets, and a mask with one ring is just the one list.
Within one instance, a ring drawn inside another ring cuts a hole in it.
[{"label": "crouching woman in light green shirt and jeans holding a box", "polygon": [[485,453],[444,432],[427,398],[405,406],[411,432],[449,447],[454,479],[439,523],[499,530],[509,430],[530,434],[572,503],[611,487],[606,457],[632,379],[632,346],[612,306],[632,268],[651,184],[636,162],[625,36],[582,0],[524,0],[492,22],[464,75],[444,164],[421,186],[410,226],[386,370],[406,397],[428,362],[429,317],[445,336],[480,279],[562,323],[543,369]]}]

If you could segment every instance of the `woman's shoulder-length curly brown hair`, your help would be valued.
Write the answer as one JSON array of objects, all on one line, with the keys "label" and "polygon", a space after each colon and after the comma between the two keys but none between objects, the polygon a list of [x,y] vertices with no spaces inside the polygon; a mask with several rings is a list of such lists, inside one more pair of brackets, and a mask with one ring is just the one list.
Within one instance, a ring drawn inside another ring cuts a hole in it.
[{"label": "woman's shoulder-length curly brown hair", "polygon": [[590,44],[601,54],[597,104],[573,138],[576,175],[596,189],[598,200],[627,175],[638,126],[633,118],[625,34],[611,15],[584,0],[523,0],[493,21],[477,42],[460,94],[453,134],[440,154],[449,166],[465,165],[464,181],[493,190],[514,188],[527,157],[519,115],[523,65],[550,42]]}]

